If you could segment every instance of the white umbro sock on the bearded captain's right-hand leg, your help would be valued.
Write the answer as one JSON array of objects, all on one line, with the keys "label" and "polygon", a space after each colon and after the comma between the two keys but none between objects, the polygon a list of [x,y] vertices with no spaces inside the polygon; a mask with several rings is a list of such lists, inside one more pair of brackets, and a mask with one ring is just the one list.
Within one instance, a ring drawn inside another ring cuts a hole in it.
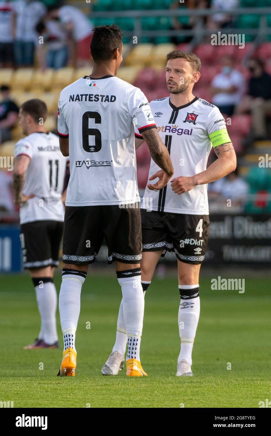
[{"label": "white umbro sock on the bearded captain's right-hand leg", "polygon": [[179,285],[181,302],[178,313],[181,351],[178,362],[182,359],[192,364],[192,349],[200,316],[199,285]]}]

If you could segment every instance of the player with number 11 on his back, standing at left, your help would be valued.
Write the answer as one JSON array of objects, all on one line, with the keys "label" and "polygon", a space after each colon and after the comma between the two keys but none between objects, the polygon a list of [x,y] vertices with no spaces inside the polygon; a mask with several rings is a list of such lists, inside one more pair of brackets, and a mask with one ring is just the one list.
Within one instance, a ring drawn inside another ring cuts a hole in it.
[{"label": "player with number 11 on his back, standing at left", "polygon": [[35,287],[41,318],[38,338],[24,349],[56,348],[57,291],[53,283],[54,267],[63,233],[62,198],[67,157],[59,148],[59,139],[46,133],[43,123],[47,107],[39,99],[24,102],[19,124],[27,136],[14,149],[14,201],[20,204],[20,242],[23,265],[29,269]]}]

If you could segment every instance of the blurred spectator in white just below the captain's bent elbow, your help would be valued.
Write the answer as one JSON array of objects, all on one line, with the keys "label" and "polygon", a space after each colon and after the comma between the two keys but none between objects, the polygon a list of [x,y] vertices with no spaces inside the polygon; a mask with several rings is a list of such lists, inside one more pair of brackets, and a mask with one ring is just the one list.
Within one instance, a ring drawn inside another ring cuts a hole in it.
[{"label": "blurred spectator in white just below the captain's bent elbow", "polygon": [[231,200],[231,206],[244,204],[249,185],[238,175],[238,168],[227,176],[208,185],[211,198]]}]

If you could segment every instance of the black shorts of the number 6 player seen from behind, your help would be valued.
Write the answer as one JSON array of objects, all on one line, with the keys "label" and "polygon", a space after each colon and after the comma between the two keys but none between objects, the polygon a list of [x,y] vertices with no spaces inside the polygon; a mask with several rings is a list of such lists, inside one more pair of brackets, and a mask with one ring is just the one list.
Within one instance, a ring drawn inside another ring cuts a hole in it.
[{"label": "black shorts of the number 6 player seen from behind", "polygon": [[108,206],[66,206],[63,262],[93,263],[103,240],[108,263],[139,263],[142,259],[140,204]]}]

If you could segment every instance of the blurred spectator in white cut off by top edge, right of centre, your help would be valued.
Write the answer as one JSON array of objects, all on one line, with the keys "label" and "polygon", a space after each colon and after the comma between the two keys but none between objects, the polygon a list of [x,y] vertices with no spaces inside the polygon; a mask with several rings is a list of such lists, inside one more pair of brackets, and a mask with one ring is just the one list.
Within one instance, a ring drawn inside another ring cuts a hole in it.
[{"label": "blurred spectator in white cut off by top edge, right of centre", "polygon": [[211,0],[211,9],[217,10],[218,14],[210,16],[208,27],[232,27],[233,17],[231,10],[239,7],[239,0]]}]

